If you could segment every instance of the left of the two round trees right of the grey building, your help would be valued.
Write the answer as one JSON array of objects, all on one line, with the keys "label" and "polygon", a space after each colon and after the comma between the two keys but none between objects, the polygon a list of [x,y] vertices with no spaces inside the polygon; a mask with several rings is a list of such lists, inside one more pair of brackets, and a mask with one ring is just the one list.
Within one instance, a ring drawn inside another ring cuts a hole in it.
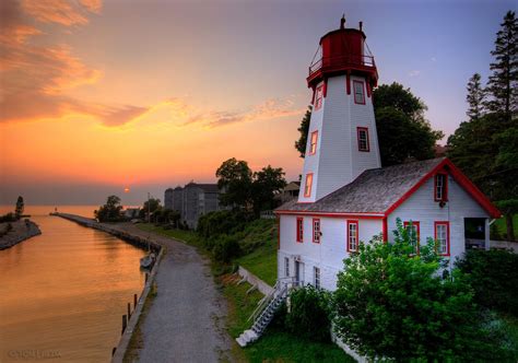
[{"label": "left of the two round trees right of the grey building", "polygon": [[217,187],[223,190],[221,203],[248,209],[251,206],[252,175],[245,161],[232,157],[223,162],[216,171]]}]

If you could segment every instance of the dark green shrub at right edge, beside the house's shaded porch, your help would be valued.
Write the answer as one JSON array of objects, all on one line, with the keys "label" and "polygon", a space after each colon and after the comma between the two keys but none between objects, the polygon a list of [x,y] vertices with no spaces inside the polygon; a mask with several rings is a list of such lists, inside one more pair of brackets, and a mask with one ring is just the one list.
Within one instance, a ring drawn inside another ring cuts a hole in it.
[{"label": "dark green shrub at right edge, beside the house's shaded porch", "polygon": [[476,303],[518,316],[518,255],[502,249],[470,249],[456,265],[467,274]]}]

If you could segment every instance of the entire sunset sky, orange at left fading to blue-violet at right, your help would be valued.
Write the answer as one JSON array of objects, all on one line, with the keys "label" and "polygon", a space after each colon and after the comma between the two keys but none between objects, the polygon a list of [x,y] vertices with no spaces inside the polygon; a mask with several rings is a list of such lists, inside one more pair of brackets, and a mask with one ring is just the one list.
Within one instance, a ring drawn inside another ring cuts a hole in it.
[{"label": "entire sunset sky, orange at left fading to blue-violet at right", "polygon": [[448,3],[2,0],[0,203],[163,199],[233,156],[297,178],[307,66],[342,13],[364,21],[381,83],[449,134],[511,2]]}]

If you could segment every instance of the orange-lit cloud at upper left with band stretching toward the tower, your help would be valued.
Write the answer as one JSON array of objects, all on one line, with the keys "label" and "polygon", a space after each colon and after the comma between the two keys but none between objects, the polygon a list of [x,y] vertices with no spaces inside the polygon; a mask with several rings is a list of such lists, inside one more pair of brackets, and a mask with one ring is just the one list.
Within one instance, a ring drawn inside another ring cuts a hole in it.
[{"label": "orange-lit cloud at upper left with band stretching toward the tower", "polygon": [[[299,116],[293,98],[267,99],[245,109],[202,109],[186,98],[151,105],[110,105],[83,102],[68,95],[74,87],[96,83],[102,77],[67,44],[31,42],[46,37],[38,23],[57,27],[82,26],[102,10],[101,0],[4,0],[0,2],[0,122],[59,119],[82,115],[107,127],[142,122],[217,128],[226,125]],[[34,22],[36,21],[36,22]]]}]

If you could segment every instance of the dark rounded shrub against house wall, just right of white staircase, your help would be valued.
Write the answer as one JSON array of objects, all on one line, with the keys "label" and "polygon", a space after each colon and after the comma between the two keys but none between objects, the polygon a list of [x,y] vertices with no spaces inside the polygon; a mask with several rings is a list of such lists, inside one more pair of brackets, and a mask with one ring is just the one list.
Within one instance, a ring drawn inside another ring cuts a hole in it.
[{"label": "dark rounded shrub against house wall, just right of white staircase", "polygon": [[327,291],[311,285],[296,289],[290,294],[289,313],[284,325],[286,330],[316,341],[329,341],[330,296]]}]

